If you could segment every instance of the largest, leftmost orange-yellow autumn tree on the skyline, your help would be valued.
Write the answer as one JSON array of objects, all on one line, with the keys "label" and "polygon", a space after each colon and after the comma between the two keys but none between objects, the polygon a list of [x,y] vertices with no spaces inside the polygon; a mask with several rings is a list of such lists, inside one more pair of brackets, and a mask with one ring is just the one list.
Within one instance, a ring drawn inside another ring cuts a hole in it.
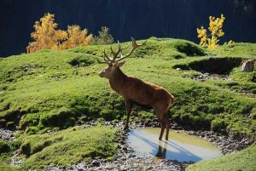
[{"label": "largest, leftmost orange-yellow autumn tree on the skyline", "polygon": [[36,21],[31,37],[35,40],[26,47],[27,53],[38,52],[41,49],[58,49],[61,41],[67,39],[67,32],[56,30],[54,14],[44,14],[40,21]]}]

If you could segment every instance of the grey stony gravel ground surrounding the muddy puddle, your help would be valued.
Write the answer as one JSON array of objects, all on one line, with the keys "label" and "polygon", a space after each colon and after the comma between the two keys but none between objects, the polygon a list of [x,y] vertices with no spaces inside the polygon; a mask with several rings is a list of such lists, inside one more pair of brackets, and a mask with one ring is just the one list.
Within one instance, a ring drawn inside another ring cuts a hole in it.
[{"label": "grey stony gravel ground surrounding the muddy puddle", "polygon": [[[157,119],[151,120],[151,125],[154,126],[154,123],[158,122]],[[95,122],[91,122],[90,124],[94,124]],[[108,125],[108,123],[106,123]],[[118,123],[118,127],[122,128],[122,124]],[[139,127],[139,123],[136,123],[135,127]],[[179,128],[180,126],[177,125],[177,123],[172,123],[172,127]],[[180,127],[180,129],[182,129]],[[131,130],[130,130],[131,131]],[[174,130],[177,131],[178,130]],[[5,132],[5,131],[3,131]],[[247,145],[252,144],[253,142],[247,140],[247,138],[242,138],[240,140],[236,140],[236,137],[228,137],[223,134],[217,134],[213,131],[203,131],[203,130],[197,130],[197,131],[185,131],[188,134],[195,134],[197,136],[204,137],[206,140],[211,140],[214,145],[216,145],[222,153],[228,154],[233,151],[241,150],[245,148]],[[113,157],[113,161],[109,162],[106,159],[95,159],[92,162],[90,162],[90,166],[88,166],[87,162],[78,162],[72,165],[72,168],[61,168],[61,166],[56,167],[48,167],[45,169],[45,171],[53,171],[53,170],[123,170],[123,171],[135,171],[135,170],[185,170],[189,166],[189,164],[192,164],[194,162],[178,162],[177,160],[154,160],[151,157],[144,156],[144,157],[137,157],[135,151],[131,149],[131,146],[128,145],[128,134],[129,131],[123,132],[119,136],[119,138],[116,140],[116,142],[119,142],[119,154],[116,154]]]}]

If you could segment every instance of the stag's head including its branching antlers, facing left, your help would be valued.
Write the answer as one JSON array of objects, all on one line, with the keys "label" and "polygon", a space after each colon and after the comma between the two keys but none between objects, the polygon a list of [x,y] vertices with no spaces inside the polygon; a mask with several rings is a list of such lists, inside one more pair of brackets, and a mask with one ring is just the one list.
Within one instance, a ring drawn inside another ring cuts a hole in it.
[{"label": "stag's head including its branching antlers, facing left", "polygon": [[120,66],[123,66],[125,64],[125,61],[123,62],[119,62],[119,61],[129,57],[136,48],[143,46],[145,43],[146,41],[142,44],[137,44],[136,40],[131,37],[131,50],[128,54],[125,54],[125,56],[123,55],[123,50],[125,48],[128,48],[130,43],[125,48],[122,48],[121,43],[119,43],[118,41],[118,48],[116,51],[113,51],[113,48],[111,45],[110,46],[111,53],[109,56],[106,54],[106,51],[104,49],[104,52],[103,52],[104,61],[100,61],[98,58],[96,58],[96,60],[101,64],[108,64],[108,66],[99,72],[99,76],[107,77],[109,79],[113,75],[113,73],[119,69]]}]

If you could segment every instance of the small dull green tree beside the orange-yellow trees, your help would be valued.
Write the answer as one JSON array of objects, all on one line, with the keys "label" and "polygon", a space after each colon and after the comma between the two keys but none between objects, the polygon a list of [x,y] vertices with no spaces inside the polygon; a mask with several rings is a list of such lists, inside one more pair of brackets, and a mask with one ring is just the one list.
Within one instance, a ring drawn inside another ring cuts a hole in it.
[{"label": "small dull green tree beside the orange-yellow trees", "polygon": [[107,26],[102,26],[102,31],[99,31],[98,37],[93,37],[92,44],[112,44],[113,37],[109,33],[109,28]]}]

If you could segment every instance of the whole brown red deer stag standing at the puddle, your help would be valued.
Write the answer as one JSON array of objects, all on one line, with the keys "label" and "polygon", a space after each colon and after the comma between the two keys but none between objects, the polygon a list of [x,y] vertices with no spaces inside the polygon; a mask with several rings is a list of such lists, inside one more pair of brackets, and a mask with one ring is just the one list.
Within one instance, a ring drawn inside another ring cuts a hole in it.
[{"label": "whole brown red deer stag standing at the puddle", "polygon": [[[100,77],[107,77],[109,79],[110,87],[114,91],[119,93],[125,100],[127,118],[125,122],[125,128],[128,128],[129,117],[131,114],[131,105],[136,102],[140,105],[147,105],[154,109],[156,115],[161,123],[161,131],[159,140],[162,139],[166,128],[166,140],[168,140],[170,120],[167,112],[174,102],[174,96],[165,88],[154,85],[153,83],[146,83],[136,77],[126,76],[123,71],[120,70],[120,66],[125,64],[125,61],[119,62],[120,60],[125,60],[129,57],[132,52],[143,46],[146,42],[142,44],[137,44],[135,39],[131,37],[132,48],[128,54],[123,55],[122,51],[127,47],[122,48],[121,44],[118,43],[118,49],[113,51],[112,46],[110,47],[111,54],[113,57],[108,56],[104,49],[103,59],[104,61],[98,60],[99,63],[108,64],[108,67],[99,72]],[[118,55],[120,56],[118,57]]]}]

